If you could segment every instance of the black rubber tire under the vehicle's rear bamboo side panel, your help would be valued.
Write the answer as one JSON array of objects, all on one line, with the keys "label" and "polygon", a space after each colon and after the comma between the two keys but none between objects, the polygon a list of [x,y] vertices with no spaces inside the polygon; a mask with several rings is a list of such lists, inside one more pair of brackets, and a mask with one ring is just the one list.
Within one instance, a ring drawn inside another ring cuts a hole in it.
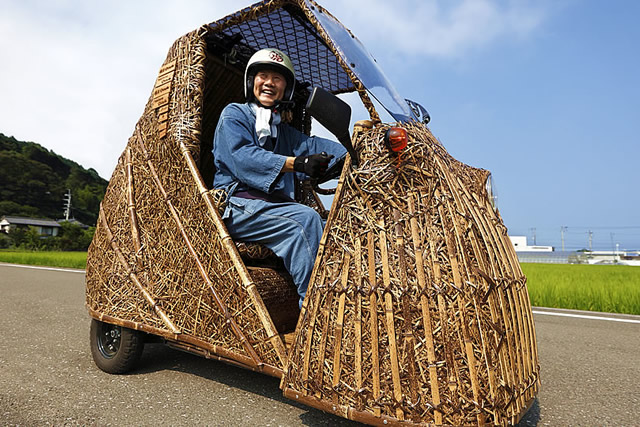
[{"label": "black rubber tire under the vehicle's rear bamboo side panel", "polygon": [[[111,348],[111,351],[106,351],[102,336],[112,330],[120,331],[119,345]],[[89,341],[93,361],[98,368],[109,374],[124,374],[132,370],[144,350],[144,334],[141,332],[96,319],[91,319]]]}]

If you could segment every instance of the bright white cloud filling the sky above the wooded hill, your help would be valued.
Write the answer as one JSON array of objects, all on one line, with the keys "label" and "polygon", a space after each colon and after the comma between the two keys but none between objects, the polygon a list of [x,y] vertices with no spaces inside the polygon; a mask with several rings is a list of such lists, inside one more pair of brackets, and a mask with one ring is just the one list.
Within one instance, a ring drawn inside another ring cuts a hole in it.
[{"label": "bright white cloud filling the sky above the wooded hill", "polygon": [[109,178],[182,34],[246,6],[15,1],[0,14],[0,132]]}]

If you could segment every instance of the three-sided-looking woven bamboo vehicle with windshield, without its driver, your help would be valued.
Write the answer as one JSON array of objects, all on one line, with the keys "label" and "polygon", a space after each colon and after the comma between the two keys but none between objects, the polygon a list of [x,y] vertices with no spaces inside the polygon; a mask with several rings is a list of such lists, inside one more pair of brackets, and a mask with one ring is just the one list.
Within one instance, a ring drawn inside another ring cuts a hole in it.
[{"label": "three-sided-looking woven bamboo vehicle with windshield, without its driver", "polygon": [[[243,101],[244,66],[265,47],[295,64],[292,126],[309,133],[312,114],[343,108],[322,91],[320,112],[305,108],[310,87],[356,92],[370,115],[351,138],[328,120],[351,154],[330,211],[314,186],[299,186],[299,201],[328,216],[301,311],[273,254],[231,239],[224,195],[210,189],[220,112]],[[370,96],[397,123],[383,124]],[[453,159],[427,121],[312,0],[266,1],[179,38],[89,249],[97,365],[125,372],[159,336],[280,377],[285,396],[364,423],[516,423],[540,384],[526,279],[489,172]]]}]

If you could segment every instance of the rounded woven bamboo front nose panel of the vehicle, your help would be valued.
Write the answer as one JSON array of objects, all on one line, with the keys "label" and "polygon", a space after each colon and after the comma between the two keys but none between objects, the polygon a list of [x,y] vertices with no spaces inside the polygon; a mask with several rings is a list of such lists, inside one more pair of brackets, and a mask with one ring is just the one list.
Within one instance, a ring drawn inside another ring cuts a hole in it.
[{"label": "rounded woven bamboo front nose panel of the vehicle", "polygon": [[401,158],[356,136],[283,380],[285,395],[381,423],[514,423],[539,365],[526,279],[484,189],[422,125]]}]

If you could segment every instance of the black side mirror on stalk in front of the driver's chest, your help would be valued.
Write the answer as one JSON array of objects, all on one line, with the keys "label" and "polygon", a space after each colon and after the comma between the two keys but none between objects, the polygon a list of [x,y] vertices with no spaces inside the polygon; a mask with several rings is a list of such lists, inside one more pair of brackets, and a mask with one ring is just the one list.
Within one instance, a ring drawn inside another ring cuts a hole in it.
[{"label": "black side mirror on stalk in front of the driver's chest", "polygon": [[349,104],[322,88],[314,87],[305,109],[311,117],[336,136],[351,155],[351,164],[358,166],[360,160],[353,149],[349,133],[349,123],[351,122]]}]

